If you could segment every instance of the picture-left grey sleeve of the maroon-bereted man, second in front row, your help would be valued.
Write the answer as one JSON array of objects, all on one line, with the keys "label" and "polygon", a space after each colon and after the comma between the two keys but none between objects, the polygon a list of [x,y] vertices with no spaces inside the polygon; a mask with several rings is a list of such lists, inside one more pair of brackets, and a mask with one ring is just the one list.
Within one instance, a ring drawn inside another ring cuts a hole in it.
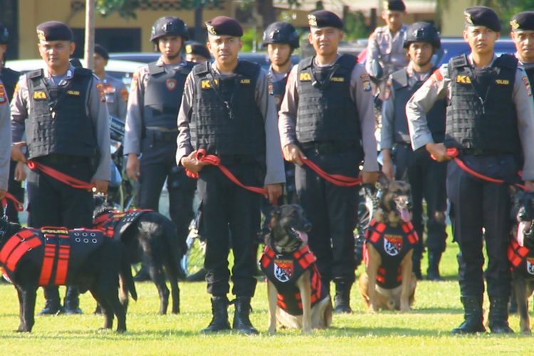
[{"label": "picture-left grey sleeve of the maroon-bereted man, second in front row", "polygon": [[182,95],[182,105],[180,105],[177,118],[178,137],[176,150],[176,163],[180,164],[182,157],[189,155],[193,151],[191,145],[191,134],[189,132],[189,122],[193,108],[194,77],[191,73],[187,75],[184,85],[184,95]]}]

